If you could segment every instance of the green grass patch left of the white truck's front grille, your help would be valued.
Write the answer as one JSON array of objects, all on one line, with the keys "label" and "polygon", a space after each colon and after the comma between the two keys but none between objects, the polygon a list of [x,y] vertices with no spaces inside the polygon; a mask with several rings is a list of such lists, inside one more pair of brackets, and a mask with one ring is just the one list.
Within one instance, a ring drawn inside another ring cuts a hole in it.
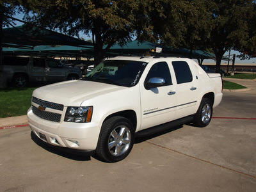
[{"label": "green grass patch left of the white truck's front grille", "polygon": [[36,88],[0,89],[0,118],[26,115]]}]

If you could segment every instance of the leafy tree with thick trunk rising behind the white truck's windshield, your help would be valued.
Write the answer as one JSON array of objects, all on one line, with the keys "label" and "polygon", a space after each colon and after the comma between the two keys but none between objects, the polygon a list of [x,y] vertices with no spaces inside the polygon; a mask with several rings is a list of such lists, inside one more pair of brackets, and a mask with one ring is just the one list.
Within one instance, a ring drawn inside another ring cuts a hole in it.
[{"label": "leafy tree with thick trunk rising behind the white truck's windshield", "polygon": [[[150,1],[28,0],[23,6],[26,20],[39,26],[58,29],[68,35],[78,35],[80,31],[86,35],[92,33],[95,64],[98,64],[112,45],[131,41],[138,30],[147,31],[136,26],[146,23],[141,20],[147,20],[147,13],[140,12],[147,10],[145,7]],[[105,49],[104,45],[107,45]]]}]

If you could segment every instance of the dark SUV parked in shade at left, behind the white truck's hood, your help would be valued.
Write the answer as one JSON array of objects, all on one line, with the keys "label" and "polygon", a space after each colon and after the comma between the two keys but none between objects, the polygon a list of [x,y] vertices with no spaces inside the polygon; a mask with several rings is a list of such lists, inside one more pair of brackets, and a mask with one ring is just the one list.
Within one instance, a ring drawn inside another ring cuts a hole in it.
[{"label": "dark SUV parked in shade at left, behind the white truck's hood", "polygon": [[59,82],[81,78],[80,70],[52,58],[4,56],[3,72],[8,82],[24,87],[29,81]]}]

